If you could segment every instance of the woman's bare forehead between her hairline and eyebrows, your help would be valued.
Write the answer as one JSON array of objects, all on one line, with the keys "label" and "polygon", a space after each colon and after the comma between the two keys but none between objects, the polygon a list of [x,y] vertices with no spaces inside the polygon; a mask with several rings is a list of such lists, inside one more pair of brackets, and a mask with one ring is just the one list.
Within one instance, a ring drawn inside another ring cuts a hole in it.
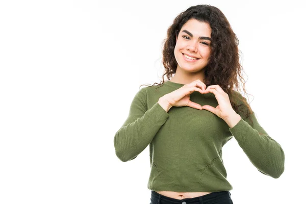
[{"label": "woman's bare forehead between her hairline and eyebrows", "polygon": [[211,27],[207,22],[200,22],[196,19],[189,19],[182,27],[180,33],[187,30],[194,36],[207,36],[211,37]]}]

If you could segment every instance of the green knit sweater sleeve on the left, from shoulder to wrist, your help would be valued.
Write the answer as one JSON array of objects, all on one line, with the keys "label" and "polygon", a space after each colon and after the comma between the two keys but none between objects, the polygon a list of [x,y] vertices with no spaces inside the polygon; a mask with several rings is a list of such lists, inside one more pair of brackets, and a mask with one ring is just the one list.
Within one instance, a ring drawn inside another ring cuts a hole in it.
[{"label": "green knit sweater sleeve on the left, from shoulder to wrist", "polygon": [[116,156],[122,162],[135,159],[149,145],[168,117],[159,103],[147,109],[146,90],[140,89],[132,100],[127,119],[115,134]]}]

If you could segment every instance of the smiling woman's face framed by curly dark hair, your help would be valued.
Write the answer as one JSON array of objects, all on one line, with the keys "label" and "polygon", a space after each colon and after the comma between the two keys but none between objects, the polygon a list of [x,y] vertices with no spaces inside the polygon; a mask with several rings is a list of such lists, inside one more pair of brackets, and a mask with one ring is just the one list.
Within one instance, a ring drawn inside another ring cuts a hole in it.
[{"label": "smiling woman's face framed by curly dark hair", "polygon": [[211,54],[210,43],[210,25],[207,22],[189,19],[183,25],[179,36],[176,37],[174,57],[177,68],[187,72],[202,70],[208,64],[208,58]]}]

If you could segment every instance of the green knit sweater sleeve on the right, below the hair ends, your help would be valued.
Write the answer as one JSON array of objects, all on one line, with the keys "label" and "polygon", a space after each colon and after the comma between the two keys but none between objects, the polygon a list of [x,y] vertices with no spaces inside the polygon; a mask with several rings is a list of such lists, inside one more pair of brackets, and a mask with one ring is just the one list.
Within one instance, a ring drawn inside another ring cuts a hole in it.
[{"label": "green knit sweater sleeve on the right, below the hair ends", "polygon": [[249,119],[245,119],[243,115],[240,116],[240,121],[230,128],[232,135],[250,162],[261,173],[277,179],[285,169],[283,148],[263,129],[253,111],[249,117],[253,123],[250,123]]}]

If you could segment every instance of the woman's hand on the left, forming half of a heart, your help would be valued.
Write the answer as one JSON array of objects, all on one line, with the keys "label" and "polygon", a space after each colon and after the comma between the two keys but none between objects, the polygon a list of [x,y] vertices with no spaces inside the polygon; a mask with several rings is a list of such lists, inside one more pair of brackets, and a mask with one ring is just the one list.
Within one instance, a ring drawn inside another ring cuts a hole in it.
[{"label": "woman's hand on the left, forming half of a heart", "polygon": [[[200,88],[198,88],[200,87]],[[172,106],[182,107],[189,106],[191,108],[202,110],[202,106],[194,103],[190,100],[190,94],[194,91],[204,93],[206,85],[200,80],[195,80],[189,84],[185,84],[179,89],[172,91],[171,93],[165,94],[163,97],[169,103],[170,108]]]}]

